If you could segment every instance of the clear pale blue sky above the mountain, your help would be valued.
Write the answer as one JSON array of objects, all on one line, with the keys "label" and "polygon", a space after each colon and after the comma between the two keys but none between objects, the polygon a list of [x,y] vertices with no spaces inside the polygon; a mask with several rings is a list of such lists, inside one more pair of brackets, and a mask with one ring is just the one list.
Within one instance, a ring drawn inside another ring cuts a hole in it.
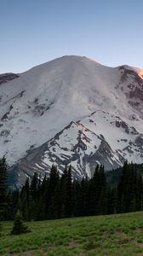
[{"label": "clear pale blue sky above the mountain", "polygon": [[143,68],[142,0],[0,0],[0,73],[62,55]]}]

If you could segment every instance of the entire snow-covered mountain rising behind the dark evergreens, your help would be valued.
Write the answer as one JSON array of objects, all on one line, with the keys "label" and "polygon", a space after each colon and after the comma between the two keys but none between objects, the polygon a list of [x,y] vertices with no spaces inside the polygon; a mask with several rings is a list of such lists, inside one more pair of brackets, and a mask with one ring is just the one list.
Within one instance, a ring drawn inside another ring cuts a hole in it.
[{"label": "entire snow-covered mountain rising behind the dark evergreens", "polygon": [[[143,70],[63,56],[0,75],[0,156],[19,182],[52,163],[90,177],[124,160],[143,162]],[[16,170],[16,171],[15,171]]]}]

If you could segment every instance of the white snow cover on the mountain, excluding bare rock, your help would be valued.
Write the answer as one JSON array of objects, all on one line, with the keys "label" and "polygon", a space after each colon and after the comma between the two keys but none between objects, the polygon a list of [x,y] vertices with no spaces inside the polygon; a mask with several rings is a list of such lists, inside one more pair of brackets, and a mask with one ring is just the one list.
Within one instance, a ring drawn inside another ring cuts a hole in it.
[{"label": "white snow cover on the mountain, excluding bare rock", "polygon": [[[134,70],[141,78],[142,70]],[[143,133],[141,110],[131,107],[127,100],[128,84],[132,83],[132,78],[121,83],[119,67],[105,67],[87,57],[72,55],[33,67],[19,75],[20,78],[0,85],[0,155],[6,154],[9,165],[24,157],[31,147],[36,148],[49,141],[71,121],[70,133],[64,131],[60,145],[51,147],[51,151],[55,150],[60,158],[66,158],[62,148],[68,148],[68,154],[72,154],[79,130],[83,132],[84,143],[86,138],[89,139],[86,141],[86,154],[91,154],[94,145],[99,148],[100,134],[113,151],[123,150],[126,143],[121,139],[133,141],[134,135],[117,129],[116,116]],[[94,111],[96,113],[89,118]],[[8,118],[2,119],[5,113]],[[136,119],[131,118],[133,115]],[[77,125],[78,120],[83,126]],[[85,127],[89,131],[84,131]],[[10,131],[8,136],[2,136],[4,130]],[[85,152],[80,154],[82,161]],[[127,152],[126,156],[129,160],[142,160],[135,151],[134,157]],[[51,165],[46,158],[43,163]],[[73,166],[77,166],[76,161]],[[37,167],[42,169],[42,166]]]}]

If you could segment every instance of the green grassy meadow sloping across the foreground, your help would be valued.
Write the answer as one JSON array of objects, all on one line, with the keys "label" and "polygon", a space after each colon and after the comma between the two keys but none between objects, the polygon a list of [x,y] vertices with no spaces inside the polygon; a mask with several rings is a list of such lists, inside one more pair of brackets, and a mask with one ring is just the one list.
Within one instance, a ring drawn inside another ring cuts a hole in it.
[{"label": "green grassy meadow sloping across the foreground", "polygon": [[0,255],[143,255],[143,212],[30,222],[31,233],[9,236],[2,223]]}]

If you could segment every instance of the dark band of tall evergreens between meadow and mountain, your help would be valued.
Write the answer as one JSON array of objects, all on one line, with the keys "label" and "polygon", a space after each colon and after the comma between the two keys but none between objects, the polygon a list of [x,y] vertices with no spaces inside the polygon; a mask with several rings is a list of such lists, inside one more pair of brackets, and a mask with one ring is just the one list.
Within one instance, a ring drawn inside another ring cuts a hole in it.
[{"label": "dark band of tall evergreens between meadow and mountain", "polygon": [[0,160],[0,219],[14,219],[19,210],[25,220],[71,218],[89,215],[142,211],[143,178],[136,165],[125,162],[117,184],[106,179],[104,166],[97,165],[94,176],[72,178],[72,166],[62,175],[56,166],[49,177],[34,173],[21,189],[7,189],[7,165]]}]

